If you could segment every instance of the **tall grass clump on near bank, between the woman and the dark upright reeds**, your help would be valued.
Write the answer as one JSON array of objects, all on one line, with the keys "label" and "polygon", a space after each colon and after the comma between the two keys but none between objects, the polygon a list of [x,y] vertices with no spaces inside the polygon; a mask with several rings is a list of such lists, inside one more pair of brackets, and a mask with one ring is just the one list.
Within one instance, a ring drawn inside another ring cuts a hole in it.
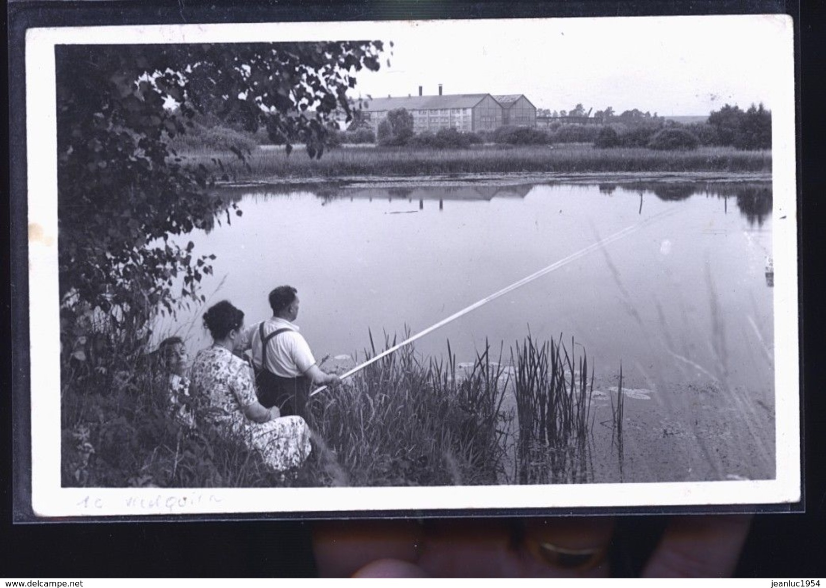
[{"label": "tall grass clump on near bank, between the woman and the dark upright reeds", "polygon": [[[377,348],[371,334],[367,358]],[[385,337],[385,349],[396,338]],[[505,467],[508,415],[504,367],[490,347],[467,373],[416,357],[411,346],[358,372],[311,402],[310,425],[324,439],[328,481],[349,486],[496,484]],[[322,473],[325,473],[322,472]]]}]

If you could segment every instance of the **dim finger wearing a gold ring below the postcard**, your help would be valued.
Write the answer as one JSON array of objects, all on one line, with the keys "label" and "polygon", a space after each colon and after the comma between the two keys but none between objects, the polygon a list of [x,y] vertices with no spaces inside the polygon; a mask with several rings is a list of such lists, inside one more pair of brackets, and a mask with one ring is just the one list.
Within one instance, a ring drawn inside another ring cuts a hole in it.
[{"label": "dim finger wearing a gold ring below the postcard", "polygon": [[534,576],[605,577],[614,519],[528,519],[522,541],[524,569]]}]

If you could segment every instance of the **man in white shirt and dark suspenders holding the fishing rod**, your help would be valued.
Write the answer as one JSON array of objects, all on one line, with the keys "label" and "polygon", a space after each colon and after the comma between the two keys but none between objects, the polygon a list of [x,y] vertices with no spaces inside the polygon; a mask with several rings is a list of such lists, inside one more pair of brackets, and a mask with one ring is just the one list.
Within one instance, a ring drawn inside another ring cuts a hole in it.
[{"label": "man in white shirt and dark suspenders holding the fishing rod", "polygon": [[306,418],[311,384],[340,382],[335,373],[321,371],[304,337],[293,323],[298,316],[297,290],[279,286],[269,293],[273,315],[241,333],[240,352],[252,351],[259,402],[278,406],[282,416]]}]

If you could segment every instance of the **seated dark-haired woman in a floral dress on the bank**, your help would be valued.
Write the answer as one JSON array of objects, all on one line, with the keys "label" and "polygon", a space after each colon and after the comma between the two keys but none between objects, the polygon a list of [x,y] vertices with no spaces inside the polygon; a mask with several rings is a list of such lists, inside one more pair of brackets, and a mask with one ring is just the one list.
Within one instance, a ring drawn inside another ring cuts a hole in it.
[{"label": "seated dark-haired woman in a floral dress on the bank", "polygon": [[281,417],[266,409],[255,395],[249,363],[233,354],[244,313],[229,301],[218,302],[204,314],[214,344],[197,353],[190,368],[191,394],[226,436],[243,440],[276,472],[300,466],[311,452],[310,429],[299,416]]}]

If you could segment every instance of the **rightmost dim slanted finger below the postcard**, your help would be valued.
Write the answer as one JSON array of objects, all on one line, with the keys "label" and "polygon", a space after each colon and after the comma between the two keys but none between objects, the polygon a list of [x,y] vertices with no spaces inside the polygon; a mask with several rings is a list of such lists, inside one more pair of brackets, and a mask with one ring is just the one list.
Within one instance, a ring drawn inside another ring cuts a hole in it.
[{"label": "rightmost dim slanted finger below the postcard", "polygon": [[643,570],[644,577],[728,577],[737,566],[751,517],[675,517]]}]

